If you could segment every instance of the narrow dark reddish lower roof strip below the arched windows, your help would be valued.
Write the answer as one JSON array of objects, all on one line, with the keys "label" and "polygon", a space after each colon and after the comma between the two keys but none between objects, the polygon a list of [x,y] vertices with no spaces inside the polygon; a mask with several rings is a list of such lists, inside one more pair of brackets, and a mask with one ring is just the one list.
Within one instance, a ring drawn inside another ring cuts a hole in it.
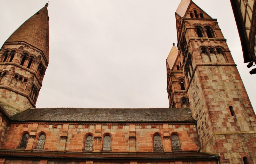
[{"label": "narrow dark reddish lower roof strip below the arched windows", "polygon": [[88,153],[78,153],[78,152],[71,152],[71,153],[58,153],[58,152],[40,152],[40,151],[33,151],[33,152],[24,152],[24,151],[0,151],[0,157],[26,157],[26,158],[61,158],[65,159],[75,158],[94,158],[94,159],[129,159],[132,160],[133,158],[161,158],[161,159],[184,159],[184,158],[217,158],[218,156],[200,153],[200,152],[173,152],[169,154],[164,153],[143,153],[143,154],[122,154],[122,153],[107,153],[107,154],[88,154]]}]

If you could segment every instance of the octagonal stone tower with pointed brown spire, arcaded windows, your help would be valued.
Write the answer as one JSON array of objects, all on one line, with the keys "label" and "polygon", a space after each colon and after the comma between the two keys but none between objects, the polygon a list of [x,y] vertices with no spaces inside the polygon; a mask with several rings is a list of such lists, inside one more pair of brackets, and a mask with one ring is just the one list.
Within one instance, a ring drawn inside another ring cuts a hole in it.
[{"label": "octagonal stone tower with pointed brown spire, arcaded windows", "polygon": [[0,105],[9,116],[35,108],[49,62],[47,6],[24,22],[0,49]]}]

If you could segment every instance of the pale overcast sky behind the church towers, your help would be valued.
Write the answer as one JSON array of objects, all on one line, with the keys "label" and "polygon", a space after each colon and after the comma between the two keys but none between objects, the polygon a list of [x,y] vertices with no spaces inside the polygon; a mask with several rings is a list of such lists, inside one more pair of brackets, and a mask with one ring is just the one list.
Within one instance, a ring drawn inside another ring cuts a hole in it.
[{"label": "pale overcast sky behind the church towers", "polygon": [[[0,44],[47,1],[0,0]],[[194,2],[218,20],[256,108],[256,75],[243,64],[230,1]],[[50,0],[49,65],[36,107],[168,107],[166,58],[177,44],[179,3]]]}]

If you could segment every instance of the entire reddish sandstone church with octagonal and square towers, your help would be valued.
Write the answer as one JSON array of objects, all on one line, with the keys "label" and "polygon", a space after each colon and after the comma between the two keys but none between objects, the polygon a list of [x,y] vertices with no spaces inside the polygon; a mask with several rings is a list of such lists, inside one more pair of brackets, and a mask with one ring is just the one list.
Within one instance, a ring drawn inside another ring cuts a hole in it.
[{"label": "entire reddish sandstone church with octagonal and square towers", "polygon": [[47,7],[0,49],[0,164],[256,163],[256,116],[227,40],[192,0],[175,13],[169,108],[36,108],[49,63]]}]

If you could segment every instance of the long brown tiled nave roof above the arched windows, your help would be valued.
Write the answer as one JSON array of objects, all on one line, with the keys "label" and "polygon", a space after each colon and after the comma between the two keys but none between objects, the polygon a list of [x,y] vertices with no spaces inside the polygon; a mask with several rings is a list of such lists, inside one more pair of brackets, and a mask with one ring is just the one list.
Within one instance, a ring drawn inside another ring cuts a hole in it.
[{"label": "long brown tiled nave roof above the arched windows", "polygon": [[185,108],[30,108],[12,121],[194,122]]}]

